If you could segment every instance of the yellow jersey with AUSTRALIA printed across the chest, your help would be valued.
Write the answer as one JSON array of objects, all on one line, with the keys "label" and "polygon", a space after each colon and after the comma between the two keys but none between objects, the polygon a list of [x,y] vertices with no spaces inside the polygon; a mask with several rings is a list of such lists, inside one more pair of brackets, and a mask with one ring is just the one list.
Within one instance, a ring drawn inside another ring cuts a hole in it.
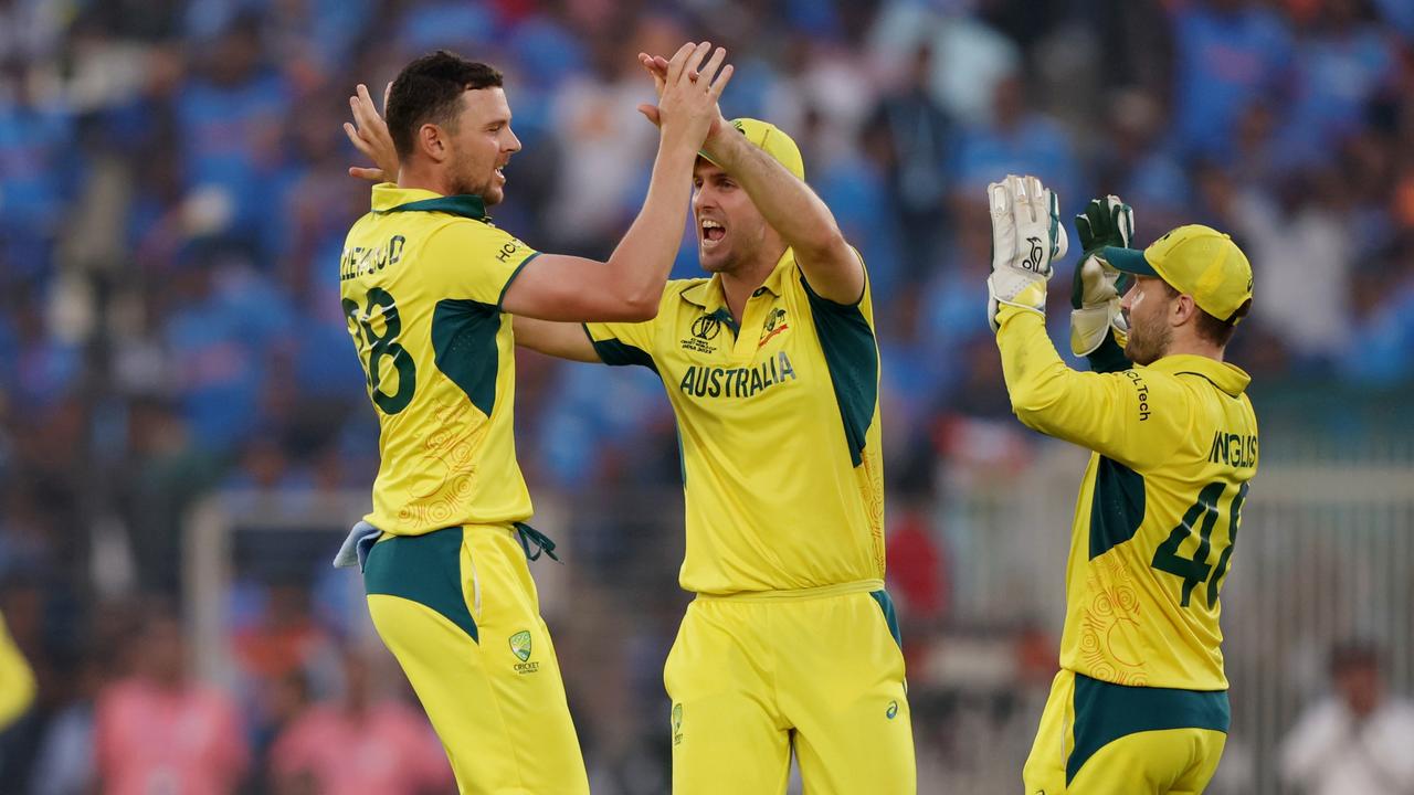
[{"label": "yellow jersey with AUSTRALIA printed across the chest", "polygon": [[884,577],[880,358],[865,287],[816,296],[786,249],[738,327],[721,277],[667,283],[646,323],[585,324],[601,359],[658,372],[677,416],[689,591]]}]

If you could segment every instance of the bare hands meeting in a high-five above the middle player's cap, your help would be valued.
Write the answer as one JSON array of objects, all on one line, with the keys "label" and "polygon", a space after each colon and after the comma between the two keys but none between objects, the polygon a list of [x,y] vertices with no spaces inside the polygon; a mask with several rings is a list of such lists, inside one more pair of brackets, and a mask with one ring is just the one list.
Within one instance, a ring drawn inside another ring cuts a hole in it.
[{"label": "bare hands meeting in a high-five above the middle player's cap", "polygon": [[658,105],[639,105],[638,110],[659,126],[665,140],[680,137],[694,151],[721,124],[717,100],[734,71],[731,64],[723,65],[727,51],[721,47],[703,65],[708,51],[711,42],[689,42],[666,65],[660,64],[662,58],[639,54],[639,62],[653,75]]}]

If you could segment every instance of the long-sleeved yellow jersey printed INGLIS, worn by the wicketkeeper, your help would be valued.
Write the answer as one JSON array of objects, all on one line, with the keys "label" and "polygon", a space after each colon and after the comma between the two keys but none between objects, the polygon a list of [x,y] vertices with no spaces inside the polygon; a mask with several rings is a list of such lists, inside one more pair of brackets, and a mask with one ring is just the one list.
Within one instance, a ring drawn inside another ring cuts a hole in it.
[{"label": "long-sleeved yellow jersey printed INGLIS, worn by the wicketkeeper", "polygon": [[1193,355],[1076,372],[1041,315],[1003,307],[998,318],[1017,416],[1094,451],[1070,530],[1060,668],[1117,685],[1226,689],[1217,594],[1257,471],[1250,378]]}]

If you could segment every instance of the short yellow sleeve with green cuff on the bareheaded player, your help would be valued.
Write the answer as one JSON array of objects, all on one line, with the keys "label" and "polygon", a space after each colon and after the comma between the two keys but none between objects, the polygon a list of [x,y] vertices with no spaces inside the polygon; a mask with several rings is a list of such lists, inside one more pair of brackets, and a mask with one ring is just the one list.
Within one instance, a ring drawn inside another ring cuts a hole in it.
[{"label": "short yellow sleeve with green cuff on the bareheaded player", "polygon": [[520,269],[540,252],[505,229],[479,221],[452,221],[424,243],[426,277],[438,294],[501,308]]}]

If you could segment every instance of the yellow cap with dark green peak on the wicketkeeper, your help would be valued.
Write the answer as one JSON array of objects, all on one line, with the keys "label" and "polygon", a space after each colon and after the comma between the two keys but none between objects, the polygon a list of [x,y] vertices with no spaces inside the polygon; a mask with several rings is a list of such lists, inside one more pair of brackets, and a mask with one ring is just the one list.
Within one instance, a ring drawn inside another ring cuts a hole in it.
[{"label": "yellow cap with dark green peak on the wicketkeeper", "polygon": [[1179,226],[1143,252],[1106,246],[1102,256],[1116,270],[1168,282],[1225,323],[1241,320],[1237,310],[1251,300],[1247,255],[1232,238],[1202,224]]}]

